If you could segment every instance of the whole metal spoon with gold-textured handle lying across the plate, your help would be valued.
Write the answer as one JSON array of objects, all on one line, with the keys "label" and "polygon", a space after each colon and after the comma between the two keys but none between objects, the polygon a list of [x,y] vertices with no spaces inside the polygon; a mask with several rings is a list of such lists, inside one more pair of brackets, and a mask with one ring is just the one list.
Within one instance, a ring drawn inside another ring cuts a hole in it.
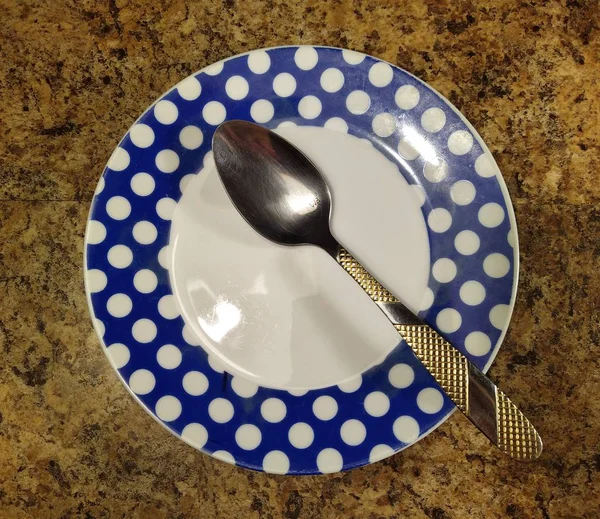
[{"label": "whole metal spoon with gold-textured handle lying across the plate", "polygon": [[539,434],[515,404],[333,237],[331,193],[306,155],[246,121],[221,124],[213,154],[231,201],[251,227],[276,243],[324,249],[369,294],[441,389],[494,445],[518,460],[541,454]]}]

